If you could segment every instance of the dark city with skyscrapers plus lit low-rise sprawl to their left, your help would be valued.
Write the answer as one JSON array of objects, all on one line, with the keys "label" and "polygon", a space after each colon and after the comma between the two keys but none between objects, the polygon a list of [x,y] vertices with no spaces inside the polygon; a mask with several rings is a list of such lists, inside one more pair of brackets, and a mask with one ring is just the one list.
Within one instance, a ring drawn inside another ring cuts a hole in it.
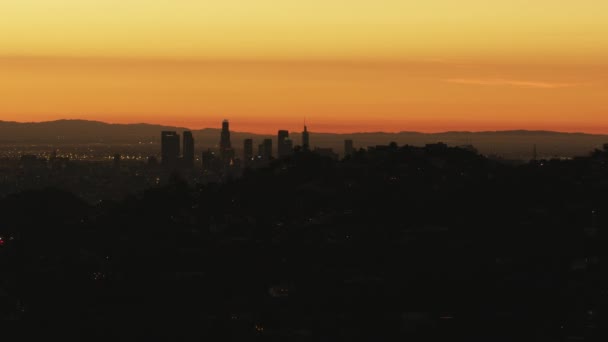
[{"label": "dark city with skyscrapers plus lit low-rise sprawl to their left", "polygon": [[[267,167],[270,161],[289,157],[298,150],[338,159],[331,148],[311,149],[306,126],[298,145],[287,130],[278,131],[274,139],[255,141],[244,137],[242,145],[234,144],[227,120],[219,135],[217,146],[204,149],[200,145],[197,149],[191,131],[163,131],[160,151],[152,143],[111,148],[60,146],[51,151],[44,151],[47,146],[43,146],[41,150],[22,151],[19,158],[0,157],[0,197],[61,185],[90,203],[97,203],[166,184],[176,173],[189,184],[239,178],[245,169]],[[352,140],[345,142],[345,156],[353,153],[352,145]]]}]

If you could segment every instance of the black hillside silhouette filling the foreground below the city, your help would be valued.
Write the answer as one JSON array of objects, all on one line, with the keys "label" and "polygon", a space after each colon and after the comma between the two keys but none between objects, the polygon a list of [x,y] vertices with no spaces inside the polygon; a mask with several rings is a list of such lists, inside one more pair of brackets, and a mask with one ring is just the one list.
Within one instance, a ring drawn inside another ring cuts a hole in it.
[{"label": "black hillside silhouette filling the foreground below the city", "polygon": [[12,195],[0,313],[29,338],[599,341],[607,161],[390,144],[94,206]]}]

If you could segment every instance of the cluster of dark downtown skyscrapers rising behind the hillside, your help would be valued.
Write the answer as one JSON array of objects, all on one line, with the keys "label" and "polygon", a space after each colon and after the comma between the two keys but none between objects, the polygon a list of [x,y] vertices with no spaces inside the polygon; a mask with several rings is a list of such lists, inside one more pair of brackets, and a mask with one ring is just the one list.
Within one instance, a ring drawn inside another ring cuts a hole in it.
[{"label": "cluster of dark downtown skyscrapers rising behind the hillside", "polygon": [[[276,158],[286,158],[296,150],[312,151],[322,156],[338,159],[338,154],[331,148],[310,148],[310,132],[304,126],[302,131],[302,144],[295,145],[289,136],[288,130],[279,130],[276,139]],[[272,139],[264,139],[258,144],[257,153],[254,152],[252,138],[243,140],[242,158],[236,154],[230,138],[230,123],[222,122],[219,150],[208,148],[201,154],[202,168],[207,173],[225,174],[234,170],[267,165],[268,161],[275,159]],[[344,156],[354,153],[353,141],[345,140]],[[180,150],[180,135],[174,131],[164,131],[161,134],[161,165],[167,168],[194,168],[195,149],[192,132],[183,132],[183,153]]]}]

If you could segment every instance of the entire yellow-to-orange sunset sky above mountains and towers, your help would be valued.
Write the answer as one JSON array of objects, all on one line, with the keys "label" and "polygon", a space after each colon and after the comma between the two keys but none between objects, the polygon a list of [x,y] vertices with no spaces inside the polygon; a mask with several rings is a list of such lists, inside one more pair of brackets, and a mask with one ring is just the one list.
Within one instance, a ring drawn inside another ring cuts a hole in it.
[{"label": "entire yellow-to-orange sunset sky above mountains and towers", "polygon": [[0,2],[0,119],[608,133],[608,1]]}]

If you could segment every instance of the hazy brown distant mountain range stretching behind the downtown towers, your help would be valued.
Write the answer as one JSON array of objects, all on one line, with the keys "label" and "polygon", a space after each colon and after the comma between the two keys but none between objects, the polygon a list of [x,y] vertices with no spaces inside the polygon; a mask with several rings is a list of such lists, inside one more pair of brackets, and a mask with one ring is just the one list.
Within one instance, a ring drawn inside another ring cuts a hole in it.
[{"label": "hazy brown distant mountain range stretching behind the downtown towers", "polygon": [[[158,144],[163,130],[182,132],[184,127],[153,124],[108,124],[86,120],[58,120],[40,123],[18,123],[0,121],[0,148],[4,144]],[[219,143],[219,129],[193,130],[197,148],[215,148]],[[301,134],[292,132],[295,144],[300,144]],[[232,132],[232,143],[239,150],[245,138],[254,139],[254,144],[274,135]],[[312,147],[331,147],[342,153],[344,140],[352,139],[355,147],[388,144],[424,145],[444,142],[448,145],[473,145],[483,154],[500,155],[508,159],[529,159],[536,145],[540,157],[571,157],[586,155],[594,148],[608,143],[608,135],[585,133],[562,133],[552,131],[488,131],[488,132],[444,132],[444,133],[315,133],[311,132]],[[276,146],[275,146],[276,147]]]}]

